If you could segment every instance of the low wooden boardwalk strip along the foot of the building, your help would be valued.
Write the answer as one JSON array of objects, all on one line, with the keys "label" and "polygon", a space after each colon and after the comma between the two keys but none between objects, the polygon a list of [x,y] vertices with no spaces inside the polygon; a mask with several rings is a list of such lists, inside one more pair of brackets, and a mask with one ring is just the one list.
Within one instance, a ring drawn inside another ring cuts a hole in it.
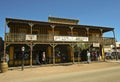
[{"label": "low wooden boardwalk strip along the foot of the building", "polygon": [[[104,61],[92,61],[90,64],[97,64],[97,63],[120,63],[120,60],[105,60]],[[58,63],[58,64],[42,64],[42,65],[32,65],[32,66],[24,66],[24,69],[33,69],[33,68],[41,68],[41,67],[54,67],[54,66],[72,66],[72,65],[86,65],[88,64],[87,61],[84,62],[69,62],[69,63]],[[18,67],[9,67],[8,70],[17,70],[17,69],[22,69],[22,66]]]}]

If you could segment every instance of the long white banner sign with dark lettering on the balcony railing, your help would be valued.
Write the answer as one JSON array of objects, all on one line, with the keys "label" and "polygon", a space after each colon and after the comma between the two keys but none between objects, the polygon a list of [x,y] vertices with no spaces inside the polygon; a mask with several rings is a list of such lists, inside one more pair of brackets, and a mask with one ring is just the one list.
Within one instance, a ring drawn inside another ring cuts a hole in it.
[{"label": "long white banner sign with dark lettering on the balcony railing", "polygon": [[88,37],[54,36],[54,41],[88,41]]}]

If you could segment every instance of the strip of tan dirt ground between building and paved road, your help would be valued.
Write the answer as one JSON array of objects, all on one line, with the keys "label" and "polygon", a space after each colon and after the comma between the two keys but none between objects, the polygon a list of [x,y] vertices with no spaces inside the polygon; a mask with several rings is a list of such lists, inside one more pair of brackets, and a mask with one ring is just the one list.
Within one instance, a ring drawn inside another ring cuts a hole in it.
[{"label": "strip of tan dirt ground between building and paved road", "polygon": [[68,65],[48,65],[48,66],[37,66],[32,68],[8,70],[5,73],[0,73],[0,82],[13,82],[19,79],[34,78],[34,77],[45,77],[53,74],[69,73],[77,71],[96,70],[102,68],[110,68],[119,66],[120,63],[111,62],[94,62],[91,64],[68,64]]}]

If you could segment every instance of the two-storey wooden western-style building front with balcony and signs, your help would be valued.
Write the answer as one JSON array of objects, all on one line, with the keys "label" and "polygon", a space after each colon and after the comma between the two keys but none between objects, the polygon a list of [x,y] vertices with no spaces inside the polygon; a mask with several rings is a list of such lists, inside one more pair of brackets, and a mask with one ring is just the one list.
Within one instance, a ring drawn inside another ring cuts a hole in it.
[{"label": "two-storey wooden western-style building front with balcony and signs", "polygon": [[6,18],[4,56],[9,53],[9,66],[21,65],[23,54],[25,65],[32,66],[37,56],[42,61],[43,52],[48,64],[74,63],[85,57],[87,49],[97,50],[104,60],[104,45],[114,44],[115,37],[103,37],[103,33],[112,31],[115,36],[114,28],[78,22],[56,17],[48,17],[48,22]]}]

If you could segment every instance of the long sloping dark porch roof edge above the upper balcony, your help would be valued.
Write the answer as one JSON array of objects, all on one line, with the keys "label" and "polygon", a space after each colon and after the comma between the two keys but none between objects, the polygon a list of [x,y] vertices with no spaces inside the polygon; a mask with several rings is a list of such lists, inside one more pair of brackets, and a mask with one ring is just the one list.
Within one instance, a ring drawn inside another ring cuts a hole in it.
[{"label": "long sloping dark porch roof edge above the upper balcony", "polygon": [[56,25],[60,27],[69,27],[73,26],[76,28],[90,28],[90,29],[103,29],[103,32],[113,31],[114,28],[110,27],[103,27],[103,26],[92,26],[92,25],[73,25],[73,24],[61,24],[61,23],[51,23],[51,22],[45,22],[45,21],[36,21],[36,20],[26,20],[26,19],[16,19],[16,18],[6,18],[7,24],[13,24],[13,23],[22,23],[22,24],[39,24],[39,25]]}]

